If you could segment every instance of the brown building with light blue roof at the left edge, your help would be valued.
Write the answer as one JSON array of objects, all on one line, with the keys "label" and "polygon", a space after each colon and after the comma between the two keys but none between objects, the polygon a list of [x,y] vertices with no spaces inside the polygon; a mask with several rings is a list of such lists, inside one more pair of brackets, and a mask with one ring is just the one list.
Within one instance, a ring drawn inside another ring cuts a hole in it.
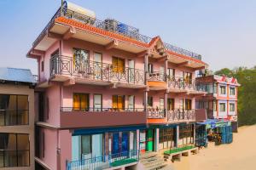
[{"label": "brown building with light blue roof at the left edge", "polygon": [[0,169],[35,169],[34,86],[31,71],[0,68]]}]

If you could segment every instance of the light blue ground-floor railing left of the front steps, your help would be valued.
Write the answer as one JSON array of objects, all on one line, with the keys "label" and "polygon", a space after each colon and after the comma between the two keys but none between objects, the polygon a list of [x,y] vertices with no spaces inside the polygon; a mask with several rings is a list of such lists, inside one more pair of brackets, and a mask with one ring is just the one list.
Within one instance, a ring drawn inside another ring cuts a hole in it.
[{"label": "light blue ground-floor railing left of the front steps", "polygon": [[67,170],[78,169],[107,169],[110,167],[118,167],[120,165],[137,162],[139,160],[139,150],[130,150],[118,154],[110,154],[106,156],[97,156],[90,159],[79,161],[67,161]]}]

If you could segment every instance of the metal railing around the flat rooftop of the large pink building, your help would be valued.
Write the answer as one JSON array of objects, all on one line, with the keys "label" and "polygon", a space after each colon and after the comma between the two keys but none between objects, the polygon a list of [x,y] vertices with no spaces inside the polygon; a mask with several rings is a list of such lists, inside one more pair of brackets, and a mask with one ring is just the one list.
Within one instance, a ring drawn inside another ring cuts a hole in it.
[{"label": "metal railing around the flat rooftop of the large pink building", "polygon": [[[61,13],[61,8],[59,8],[55,13],[55,15],[51,18],[51,20],[49,20],[49,23],[47,24],[47,26],[44,27],[44,30],[39,34],[35,42],[33,42],[33,47],[35,47],[38,44],[38,42],[44,37],[49,27],[54,23],[55,19],[57,17],[60,17],[61,15],[63,17],[66,17],[67,19],[78,20],[79,22],[82,22],[86,25],[94,26],[96,28],[100,28],[106,31],[111,31],[125,37],[130,37],[139,42],[149,43],[152,40],[151,37],[147,37],[140,34],[137,28],[133,26],[125,25],[117,20],[104,20],[104,21],[97,20],[95,18],[91,18],[84,14],[79,14],[78,12],[75,12],[67,8],[63,8],[63,11]],[[167,50],[170,50],[174,53],[183,54],[191,58],[201,60],[201,54],[196,54],[183,48],[177,48],[176,46],[173,46],[169,43],[164,43],[164,46]]]}]

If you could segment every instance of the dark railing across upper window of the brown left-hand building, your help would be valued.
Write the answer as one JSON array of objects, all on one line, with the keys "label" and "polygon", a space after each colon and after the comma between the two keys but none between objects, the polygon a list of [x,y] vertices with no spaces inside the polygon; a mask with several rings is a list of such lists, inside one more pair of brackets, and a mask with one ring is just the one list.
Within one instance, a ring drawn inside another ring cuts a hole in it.
[{"label": "dark railing across upper window of the brown left-hand building", "polygon": [[27,110],[0,110],[0,126],[14,126],[27,124]]}]

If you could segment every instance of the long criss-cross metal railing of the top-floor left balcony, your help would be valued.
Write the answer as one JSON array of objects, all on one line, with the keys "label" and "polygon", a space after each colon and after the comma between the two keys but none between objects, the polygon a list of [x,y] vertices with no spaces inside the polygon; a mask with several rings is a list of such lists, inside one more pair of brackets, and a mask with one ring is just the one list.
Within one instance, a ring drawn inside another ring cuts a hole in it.
[{"label": "long criss-cross metal railing of the top-floor left balcony", "polygon": [[55,55],[50,59],[50,77],[61,75],[107,82],[144,84],[144,74],[142,70],[128,67],[119,68],[116,65],[89,59],[78,60],[63,55]]}]

